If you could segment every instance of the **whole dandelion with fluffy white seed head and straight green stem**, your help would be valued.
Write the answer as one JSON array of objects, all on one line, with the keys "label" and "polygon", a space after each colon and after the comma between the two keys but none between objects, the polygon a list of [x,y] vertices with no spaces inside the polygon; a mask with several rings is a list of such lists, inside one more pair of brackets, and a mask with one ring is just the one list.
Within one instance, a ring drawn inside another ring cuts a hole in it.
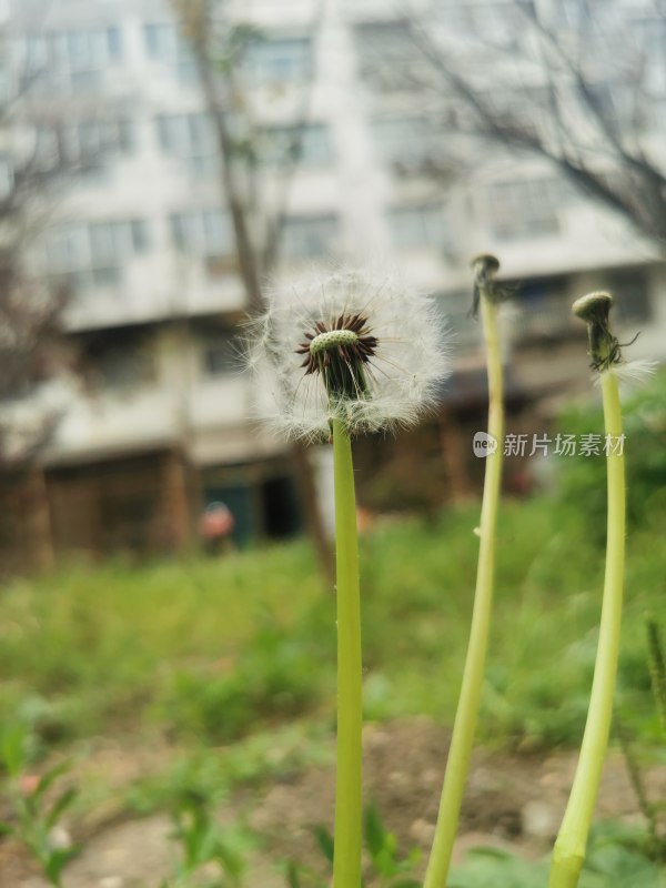
[{"label": "whole dandelion with fluffy white seed head and straight green stem", "polygon": [[355,435],[414,424],[447,371],[430,300],[372,272],[339,271],[272,294],[251,364],[261,413],[292,438],[333,442],[337,773],[333,888],[361,888],[362,647],[352,461]]}]

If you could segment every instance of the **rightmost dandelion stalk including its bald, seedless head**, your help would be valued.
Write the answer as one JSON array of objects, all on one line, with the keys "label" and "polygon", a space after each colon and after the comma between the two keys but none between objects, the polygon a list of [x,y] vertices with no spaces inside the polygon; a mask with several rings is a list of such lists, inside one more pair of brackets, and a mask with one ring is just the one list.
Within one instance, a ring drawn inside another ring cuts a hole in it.
[{"label": "rightmost dandelion stalk including its bald, seedless head", "polygon": [[[615,367],[619,344],[612,334],[609,293],[589,293],[574,303],[574,313],[587,324],[592,366],[601,373],[606,430],[608,516],[606,572],[597,656],[587,722],[568,804],[555,841],[548,888],[575,888],[585,861],[585,848],[608,746],[619,656],[625,564],[625,465],[622,407]],[[614,442],[620,442],[620,446]]]}]

